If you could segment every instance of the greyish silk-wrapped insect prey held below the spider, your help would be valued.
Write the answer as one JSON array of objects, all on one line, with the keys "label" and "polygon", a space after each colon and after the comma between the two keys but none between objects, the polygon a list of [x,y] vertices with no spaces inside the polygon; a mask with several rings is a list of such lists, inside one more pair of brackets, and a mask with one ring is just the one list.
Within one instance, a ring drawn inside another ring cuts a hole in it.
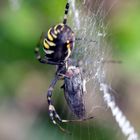
[{"label": "greyish silk-wrapped insect prey held below the spider", "polygon": [[84,103],[85,80],[80,67],[69,66],[64,78],[64,95],[70,110],[79,118],[85,118]]}]

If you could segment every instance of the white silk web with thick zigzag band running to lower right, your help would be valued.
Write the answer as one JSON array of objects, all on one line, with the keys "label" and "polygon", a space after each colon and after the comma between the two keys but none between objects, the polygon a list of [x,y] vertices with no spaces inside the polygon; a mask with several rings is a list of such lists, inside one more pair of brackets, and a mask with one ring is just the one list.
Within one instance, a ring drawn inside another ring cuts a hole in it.
[{"label": "white silk web with thick zigzag band running to lower right", "polygon": [[[87,70],[85,77],[89,77],[89,79],[87,78],[89,81],[93,80],[97,85],[99,85],[104,102],[110,108],[112,116],[115,118],[123,135],[127,137],[127,140],[139,140],[134,127],[117,106],[115,99],[110,92],[110,86],[108,86],[105,80],[106,72],[103,69],[102,63],[105,58],[105,48],[103,46],[106,47],[107,45],[104,39],[106,27],[104,26],[103,19],[109,14],[109,11],[112,9],[116,1],[112,4],[107,13],[103,12],[103,4],[105,2],[103,0],[99,4],[98,10],[95,11],[95,14],[88,13],[86,16],[83,15],[81,9],[79,10],[76,8],[75,0],[69,1],[72,5],[72,11],[74,14],[74,25],[77,27],[76,35],[81,35],[82,38],[86,38],[87,36],[88,38],[92,37],[91,39],[97,41],[97,43],[94,44],[86,41],[83,41],[82,43],[78,42],[79,48],[77,47],[75,50],[75,52],[77,51],[78,53],[76,53],[76,57],[74,58],[77,60],[82,58],[83,68]],[[84,0],[83,3],[85,4],[86,1]],[[81,14],[82,16],[80,16]]]}]

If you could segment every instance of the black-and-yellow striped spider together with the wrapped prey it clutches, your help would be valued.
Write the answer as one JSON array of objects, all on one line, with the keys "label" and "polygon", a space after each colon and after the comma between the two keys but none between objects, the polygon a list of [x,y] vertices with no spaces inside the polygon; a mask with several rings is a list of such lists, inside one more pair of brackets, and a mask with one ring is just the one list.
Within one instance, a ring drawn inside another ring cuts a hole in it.
[{"label": "black-and-yellow striped spider together with the wrapped prey it clutches", "polygon": [[[65,129],[63,129],[56,120],[59,122],[73,122],[93,118],[85,118],[86,112],[83,101],[85,81],[81,68],[74,65],[70,58],[74,49],[75,35],[72,29],[66,24],[69,7],[69,2],[67,2],[63,22],[52,26],[44,36],[41,36],[41,39],[35,48],[36,58],[40,63],[57,66],[55,77],[47,92],[47,101],[49,117],[62,131],[65,131]],[[39,53],[41,43],[43,44],[43,50],[45,52],[43,58]],[[78,120],[62,120],[55,110],[51,97],[54,86],[60,79],[64,80],[62,88],[64,89],[64,95],[68,106],[73,114],[78,117]]]}]

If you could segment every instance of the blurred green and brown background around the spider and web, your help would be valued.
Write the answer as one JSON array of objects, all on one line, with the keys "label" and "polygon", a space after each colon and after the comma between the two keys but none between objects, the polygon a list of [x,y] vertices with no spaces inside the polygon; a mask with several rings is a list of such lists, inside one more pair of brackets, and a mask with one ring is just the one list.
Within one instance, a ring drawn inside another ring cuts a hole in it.
[{"label": "blurred green and brown background around the spider and web", "polygon": [[[55,68],[40,64],[34,48],[42,31],[62,21],[65,3],[66,0],[0,1],[0,140],[125,139],[109,111],[90,122],[62,125],[72,135],[61,133],[48,118],[45,93]],[[107,0],[105,8],[112,3]],[[116,1],[106,21],[111,55],[123,61],[117,66],[109,65],[116,100],[140,132],[140,1]],[[53,100],[58,113],[67,118],[70,112],[61,85],[60,82],[56,87]]]}]

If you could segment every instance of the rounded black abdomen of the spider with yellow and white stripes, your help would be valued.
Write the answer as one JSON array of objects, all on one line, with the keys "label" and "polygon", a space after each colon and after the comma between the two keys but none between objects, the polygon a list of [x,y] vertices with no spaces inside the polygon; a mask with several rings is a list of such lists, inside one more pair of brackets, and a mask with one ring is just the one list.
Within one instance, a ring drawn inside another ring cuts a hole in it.
[{"label": "rounded black abdomen of the spider with yellow and white stripes", "polygon": [[74,33],[69,26],[63,23],[53,26],[43,40],[46,57],[54,62],[67,60],[74,47],[74,41]]}]

